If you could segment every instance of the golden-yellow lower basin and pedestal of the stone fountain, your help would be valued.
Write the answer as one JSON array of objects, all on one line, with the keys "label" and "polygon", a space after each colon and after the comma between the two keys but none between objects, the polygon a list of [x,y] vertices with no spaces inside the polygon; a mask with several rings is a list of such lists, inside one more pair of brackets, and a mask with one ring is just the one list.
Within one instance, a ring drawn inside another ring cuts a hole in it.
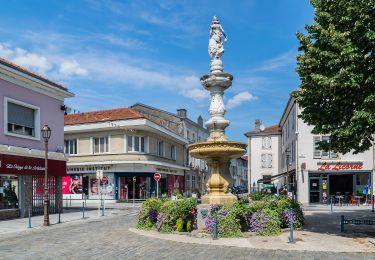
[{"label": "golden-yellow lower basin and pedestal of the stone fountain", "polygon": [[232,178],[230,159],[246,153],[246,144],[232,141],[206,141],[189,145],[190,154],[205,159],[211,169],[206,183],[208,194],[202,196],[203,204],[233,204],[237,197],[229,192]]}]

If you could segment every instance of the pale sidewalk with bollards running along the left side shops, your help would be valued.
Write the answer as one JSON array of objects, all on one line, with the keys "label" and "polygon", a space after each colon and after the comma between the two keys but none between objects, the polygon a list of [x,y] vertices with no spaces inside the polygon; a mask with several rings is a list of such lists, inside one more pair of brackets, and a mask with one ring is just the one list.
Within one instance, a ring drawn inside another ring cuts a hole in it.
[{"label": "pale sidewalk with bollards running along the left side shops", "polygon": [[[141,204],[135,204],[135,207],[133,207],[133,204],[131,203],[108,203],[105,205],[104,216],[102,216],[103,213],[102,211],[98,211],[98,203],[96,201],[93,203],[87,203],[84,213],[85,218],[83,218],[82,201],[72,201],[72,206],[69,206],[68,209],[64,206],[64,213],[60,215],[61,223],[58,223],[59,214],[50,214],[50,226],[61,225],[64,223],[92,221],[117,215],[135,215],[138,214],[140,206]],[[30,232],[35,229],[41,229],[43,228],[43,219],[43,215],[31,217],[31,228],[29,228],[28,218],[2,220],[0,221],[0,236],[4,234]]]}]

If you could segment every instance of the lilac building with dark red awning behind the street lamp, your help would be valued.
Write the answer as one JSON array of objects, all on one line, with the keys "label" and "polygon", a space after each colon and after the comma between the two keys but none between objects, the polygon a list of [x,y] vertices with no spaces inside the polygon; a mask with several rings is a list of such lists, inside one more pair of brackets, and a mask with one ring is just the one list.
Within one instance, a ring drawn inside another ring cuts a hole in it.
[{"label": "lilac building with dark red awning behind the street lamp", "polygon": [[50,211],[61,203],[64,99],[67,88],[0,58],[0,219],[43,212],[44,140],[48,125]]}]

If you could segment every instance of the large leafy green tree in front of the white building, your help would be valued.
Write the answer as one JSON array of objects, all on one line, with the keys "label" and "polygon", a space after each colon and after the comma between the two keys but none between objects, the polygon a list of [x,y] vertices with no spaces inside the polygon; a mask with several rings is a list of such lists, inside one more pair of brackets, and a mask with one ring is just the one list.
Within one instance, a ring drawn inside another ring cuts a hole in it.
[{"label": "large leafy green tree in front of the white building", "polygon": [[325,150],[368,150],[375,133],[375,0],[311,0],[315,18],[300,41],[300,91],[292,95]]}]

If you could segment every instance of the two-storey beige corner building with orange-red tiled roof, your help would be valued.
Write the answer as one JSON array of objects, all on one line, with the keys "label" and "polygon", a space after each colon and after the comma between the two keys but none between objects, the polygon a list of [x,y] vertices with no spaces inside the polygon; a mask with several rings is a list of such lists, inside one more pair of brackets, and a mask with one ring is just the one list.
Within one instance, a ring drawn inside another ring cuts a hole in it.
[{"label": "two-storey beige corner building with orange-red tiled roof", "polygon": [[[184,191],[185,138],[130,108],[65,116],[64,197],[128,200]],[[97,179],[103,171],[104,182]]]}]

